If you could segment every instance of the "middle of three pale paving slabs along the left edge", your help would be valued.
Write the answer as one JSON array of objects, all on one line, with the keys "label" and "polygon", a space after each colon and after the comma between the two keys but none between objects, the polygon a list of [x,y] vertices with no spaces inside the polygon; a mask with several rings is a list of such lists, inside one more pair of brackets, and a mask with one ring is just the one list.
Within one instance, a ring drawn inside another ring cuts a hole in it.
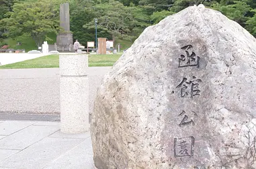
[{"label": "middle of three pale paving slabs along the left edge", "polygon": [[29,126],[0,140],[0,148],[23,150],[59,130],[58,126]]}]

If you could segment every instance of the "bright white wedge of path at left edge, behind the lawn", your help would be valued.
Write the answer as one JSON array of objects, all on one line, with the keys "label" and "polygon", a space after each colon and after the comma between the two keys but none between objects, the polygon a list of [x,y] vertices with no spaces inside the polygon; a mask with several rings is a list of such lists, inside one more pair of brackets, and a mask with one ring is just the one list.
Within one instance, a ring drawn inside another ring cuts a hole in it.
[{"label": "bright white wedge of path at left edge, behind the lawn", "polygon": [[[42,57],[42,53],[0,53],[0,65],[7,65],[28,59]],[[46,54],[49,55],[49,54]]]}]

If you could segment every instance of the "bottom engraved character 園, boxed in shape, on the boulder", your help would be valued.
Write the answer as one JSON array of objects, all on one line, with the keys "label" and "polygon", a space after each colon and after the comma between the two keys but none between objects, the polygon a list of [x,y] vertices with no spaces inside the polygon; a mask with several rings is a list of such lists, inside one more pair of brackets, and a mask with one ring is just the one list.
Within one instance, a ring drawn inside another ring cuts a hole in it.
[{"label": "bottom engraved character \u5712, boxed in shape, on the boulder", "polygon": [[193,136],[187,138],[174,139],[174,156],[175,157],[193,157],[194,156],[195,138]]}]

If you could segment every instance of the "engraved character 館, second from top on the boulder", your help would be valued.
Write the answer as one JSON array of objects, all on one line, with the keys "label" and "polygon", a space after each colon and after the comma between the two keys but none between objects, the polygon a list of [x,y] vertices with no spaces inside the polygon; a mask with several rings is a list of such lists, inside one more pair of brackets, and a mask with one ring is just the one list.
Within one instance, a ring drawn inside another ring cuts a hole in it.
[{"label": "engraved character \u9928, second from top on the boulder", "polygon": [[194,98],[194,96],[200,96],[199,84],[202,82],[201,79],[197,79],[196,76],[188,81],[187,78],[183,77],[181,83],[176,88],[181,89],[181,97],[189,96]]}]

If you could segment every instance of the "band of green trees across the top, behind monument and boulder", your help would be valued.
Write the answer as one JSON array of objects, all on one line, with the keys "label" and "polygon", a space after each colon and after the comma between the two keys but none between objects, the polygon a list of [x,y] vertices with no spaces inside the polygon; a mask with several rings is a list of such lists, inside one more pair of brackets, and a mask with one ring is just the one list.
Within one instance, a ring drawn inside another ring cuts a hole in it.
[{"label": "band of green trees across the top, behind monument and boulder", "polygon": [[[255,0],[0,0],[0,41],[8,36],[22,44],[33,38],[35,44],[27,43],[33,47],[45,40],[53,44],[60,31],[59,6],[64,2],[70,4],[74,40],[79,39],[85,46],[87,41],[95,41],[95,18],[97,37],[128,47],[148,25],[200,3],[237,21],[256,36]],[[15,49],[15,45],[11,47]]]}]

